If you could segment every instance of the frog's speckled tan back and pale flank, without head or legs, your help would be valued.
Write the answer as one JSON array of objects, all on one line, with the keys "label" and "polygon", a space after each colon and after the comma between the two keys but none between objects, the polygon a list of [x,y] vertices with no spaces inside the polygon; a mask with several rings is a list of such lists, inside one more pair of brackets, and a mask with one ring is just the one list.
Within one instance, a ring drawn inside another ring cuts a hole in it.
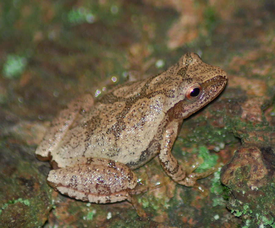
[{"label": "frog's speckled tan back and pale flank, without head or legs", "polygon": [[56,149],[58,166],[67,157],[101,157],[136,168],[155,156],[165,94],[149,88],[154,77],[121,85],[80,112]]}]

